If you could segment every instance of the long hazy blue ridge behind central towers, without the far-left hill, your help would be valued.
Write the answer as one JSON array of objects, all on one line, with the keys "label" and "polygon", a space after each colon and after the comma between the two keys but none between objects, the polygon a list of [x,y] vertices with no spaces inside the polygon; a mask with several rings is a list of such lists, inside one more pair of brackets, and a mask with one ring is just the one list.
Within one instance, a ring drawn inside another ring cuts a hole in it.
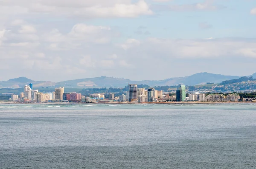
[{"label": "long hazy blue ridge behind central towers, without the far-left hill", "polygon": [[143,80],[132,81],[129,79],[120,79],[113,77],[96,77],[87,79],[76,79],[64,82],[58,82],[58,86],[64,86],[68,88],[81,88],[81,87],[125,87],[128,84],[143,84],[149,86],[173,86],[178,84],[185,85],[199,85],[206,84],[207,82],[220,83],[225,80],[238,79],[239,76],[225,76],[212,73],[197,73],[192,76],[170,78],[165,80]]}]

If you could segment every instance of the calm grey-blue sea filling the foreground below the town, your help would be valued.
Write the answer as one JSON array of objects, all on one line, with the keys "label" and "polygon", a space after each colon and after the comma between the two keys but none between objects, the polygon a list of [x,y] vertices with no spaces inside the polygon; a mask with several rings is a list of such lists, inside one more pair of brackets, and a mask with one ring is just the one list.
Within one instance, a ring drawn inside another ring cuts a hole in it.
[{"label": "calm grey-blue sea filling the foreground below the town", "polygon": [[0,104],[0,169],[256,168],[256,104]]}]

